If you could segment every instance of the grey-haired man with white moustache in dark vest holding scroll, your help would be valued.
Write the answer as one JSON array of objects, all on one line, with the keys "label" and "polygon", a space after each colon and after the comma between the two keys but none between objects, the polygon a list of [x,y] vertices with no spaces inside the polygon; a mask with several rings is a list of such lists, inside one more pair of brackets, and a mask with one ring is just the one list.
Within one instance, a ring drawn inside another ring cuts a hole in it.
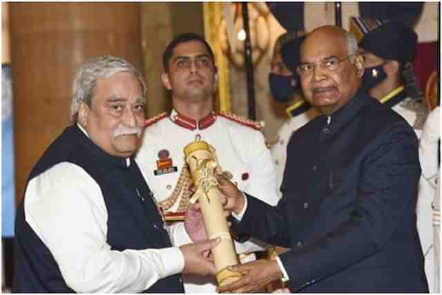
[{"label": "grey-haired man with white moustache in dark vest holding scroll", "polygon": [[34,166],[17,211],[12,292],[182,293],[181,273],[214,274],[204,254],[217,241],[173,247],[133,160],[145,95],[141,73],[123,59],[79,68],[75,124]]}]

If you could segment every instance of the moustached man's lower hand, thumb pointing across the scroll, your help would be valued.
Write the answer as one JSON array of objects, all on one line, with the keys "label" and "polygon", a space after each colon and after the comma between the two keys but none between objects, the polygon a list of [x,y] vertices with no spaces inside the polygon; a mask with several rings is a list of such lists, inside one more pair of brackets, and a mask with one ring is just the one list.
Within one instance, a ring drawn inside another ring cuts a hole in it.
[{"label": "moustached man's lower hand, thumb pointing across the scroll", "polygon": [[180,247],[184,256],[183,274],[199,274],[206,276],[215,275],[215,265],[210,256],[210,250],[221,242],[221,238],[206,240],[204,242],[195,242]]}]

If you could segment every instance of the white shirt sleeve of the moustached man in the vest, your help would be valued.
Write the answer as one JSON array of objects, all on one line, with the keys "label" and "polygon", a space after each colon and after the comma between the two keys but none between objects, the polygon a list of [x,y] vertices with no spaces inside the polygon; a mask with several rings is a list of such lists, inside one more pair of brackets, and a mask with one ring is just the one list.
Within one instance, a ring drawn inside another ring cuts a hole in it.
[{"label": "white shirt sleeve of the moustached man in the vest", "polygon": [[29,182],[25,198],[26,222],[75,292],[142,292],[182,272],[184,257],[176,247],[111,250],[102,192],[79,166],[53,166]]}]

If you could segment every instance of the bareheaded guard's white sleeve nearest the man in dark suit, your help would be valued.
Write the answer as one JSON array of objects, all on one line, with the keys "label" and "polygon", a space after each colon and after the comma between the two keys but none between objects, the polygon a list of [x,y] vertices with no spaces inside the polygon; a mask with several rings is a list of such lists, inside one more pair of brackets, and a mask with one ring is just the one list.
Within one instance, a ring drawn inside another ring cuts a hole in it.
[{"label": "bareheaded guard's white sleeve nearest the man in dark suit", "polygon": [[[244,146],[245,147],[245,146]],[[271,160],[271,154],[265,145],[265,139],[262,133],[254,132],[253,138],[247,147],[248,165],[250,167],[249,185],[244,192],[256,197],[267,204],[275,206],[278,203],[276,194],[276,171]],[[267,245],[255,238],[247,242],[235,242],[238,254],[249,253],[253,251],[262,251]]]}]

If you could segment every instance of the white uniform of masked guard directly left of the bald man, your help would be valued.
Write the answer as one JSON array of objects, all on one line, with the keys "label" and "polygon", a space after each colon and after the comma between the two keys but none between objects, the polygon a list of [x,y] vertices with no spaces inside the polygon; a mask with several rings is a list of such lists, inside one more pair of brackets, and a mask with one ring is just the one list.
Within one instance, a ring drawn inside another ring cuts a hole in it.
[{"label": "white uniform of masked guard directly left of the bald man", "polygon": [[320,115],[320,113],[316,111],[316,108],[311,107],[307,111],[291,117],[278,130],[276,140],[274,140],[274,143],[271,144],[271,158],[275,164],[276,189],[278,191],[279,198],[282,195],[280,192],[280,186],[282,183],[282,178],[284,177],[285,161],[287,160],[287,144],[289,144],[291,134],[318,115]]}]

